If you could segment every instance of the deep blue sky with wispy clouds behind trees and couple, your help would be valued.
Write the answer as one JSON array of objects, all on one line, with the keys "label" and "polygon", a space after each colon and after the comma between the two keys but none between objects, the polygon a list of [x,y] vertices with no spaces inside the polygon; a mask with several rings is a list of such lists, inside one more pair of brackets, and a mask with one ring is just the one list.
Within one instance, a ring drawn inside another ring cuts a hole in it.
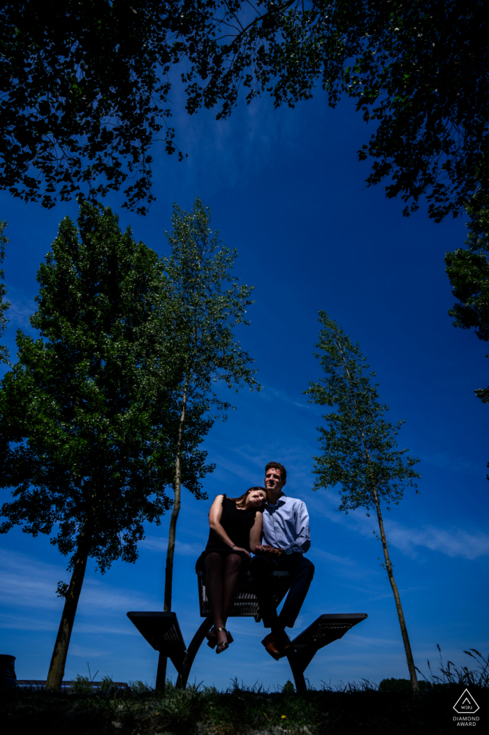
[{"label": "deep blue sky with wispy clouds behind trees and couple", "polygon": [[[178,104],[178,98],[176,98]],[[306,675],[313,686],[366,678],[407,677],[393,595],[379,566],[374,517],[340,514],[335,489],[312,492],[321,411],[303,391],[320,376],[313,357],[318,310],[358,341],[376,371],[388,418],[407,421],[399,445],[421,462],[420,495],[406,493],[385,513],[396,581],[415,664],[444,659],[468,664],[463,650],[488,651],[487,531],[488,407],[474,389],[488,384],[485,345],[451,326],[453,304],[444,272],[446,251],[463,246],[461,219],[436,225],[425,209],[402,218],[401,201],[382,187],[365,189],[368,164],[356,151],[368,128],[349,104],[329,110],[321,93],[296,110],[268,100],[239,107],[230,121],[212,115],[174,118],[185,162],[154,150],[157,202],[146,218],[106,203],[130,224],[137,240],[168,253],[164,230],[172,202],[190,209],[196,196],[213,212],[226,245],[238,248],[235,273],[254,284],[251,326],[238,337],[255,359],[261,392],[242,391],[237,410],[215,423],[205,448],[216,464],[209,501],[185,492],[177,529],[174,610],[185,641],[199,625],[196,557],[207,539],[207,512],[219,492],[238,495],[263,481],[275,459],[288,468],[286,490],[310,510],[313,586],[294,632],[321,613],[366,612],[368,619],[321,650]],[[76,205],[47,212],[3,193],[7,220],[4,263],[10,324],[5,341],[15,359],[15,330],[29,329],[38,291],[35,274],[65,216]],[[2,501],[8,493],[1,492]],[[88,564],[65,678],[90,670],[118,681],[154,683],[157,653],[126,618],[128,610],[163,607],[168,517],[149,526],[134,565],[116,563],[101,576]],[[15,529],[0,537],[2,653],[17,657],[18,678],[46,678],[62,611],[57,582],[68,581],[66,560],[46,537]],[[263,627],[231,620],[235,643],[219,659],[203,646],[193,667],[197,682],[224,688],[232,678],[272,689],[290,677],[260,645]],[[174,668],[168,673],[174,677]]]}]

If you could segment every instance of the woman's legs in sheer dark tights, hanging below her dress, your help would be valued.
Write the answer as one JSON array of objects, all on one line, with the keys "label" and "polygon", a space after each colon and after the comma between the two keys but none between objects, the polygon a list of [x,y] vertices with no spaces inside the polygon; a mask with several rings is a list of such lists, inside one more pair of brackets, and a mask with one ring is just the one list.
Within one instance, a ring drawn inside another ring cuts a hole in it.
[{"label": "woman's legs in sheer dark tights, hanging below her dress", "polygon": [[210,602],[214,620],[214,630],[218,643],[226,641],[224,631],[226,620],[232,610],[240,584],[241,557],[231,553],[223,559],[220,553],[210,553],[205,559],[205,589]]}]

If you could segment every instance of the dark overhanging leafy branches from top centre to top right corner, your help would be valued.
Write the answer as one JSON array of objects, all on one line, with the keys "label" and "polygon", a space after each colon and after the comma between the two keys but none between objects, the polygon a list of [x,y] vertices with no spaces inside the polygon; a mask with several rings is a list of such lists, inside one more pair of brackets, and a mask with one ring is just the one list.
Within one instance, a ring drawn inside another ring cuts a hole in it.
[{"label": "dark overhanging leafy branches from top centre to top right corner", "polygon": [[485,0],[264,1],[254,14],[241,2],[210,6],[182,40],[190,112],[219,102],[227,117],[241,87],[247,101],[265,92],[294,107],[319,81],[332,107],[349,96],[374,122],[359,151],[374,161],[367,184],[390,180],[387,196],[411,201],[404,215],[426,195],[440,221],[488,190]]}]

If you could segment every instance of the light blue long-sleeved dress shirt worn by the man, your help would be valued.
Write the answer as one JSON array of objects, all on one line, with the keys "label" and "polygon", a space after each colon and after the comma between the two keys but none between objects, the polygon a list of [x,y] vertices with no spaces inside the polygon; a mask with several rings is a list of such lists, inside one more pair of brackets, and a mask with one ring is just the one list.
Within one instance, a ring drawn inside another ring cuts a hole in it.
[{"label": "light blue long-sleeved dress shirt worn by the man", "polygon": [[275,505],[263,509],[263,544],[285,553],[305,553],[311,545],[306,504],[282,492]]}]

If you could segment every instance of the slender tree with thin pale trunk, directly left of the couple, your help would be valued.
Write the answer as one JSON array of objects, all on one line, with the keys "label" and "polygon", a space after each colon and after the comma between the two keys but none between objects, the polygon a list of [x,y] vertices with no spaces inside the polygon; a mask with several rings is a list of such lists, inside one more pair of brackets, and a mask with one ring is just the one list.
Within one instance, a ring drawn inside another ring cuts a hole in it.
[{"label": "slender tree with thin pale trunk, directly left of the couple", "polygon": [[[235,325],[244,318],[253,287],[238,284],[231,270],[236,250],[221,245],[218,232],[210,229],[210,209],[199,198],[191,212],[176,204],[173,229],[166,233],[171,256],[163,259],[165,275],[176,315],[174,354],[178,355],[179,388],[174,392],[178,431],[174,444],[174,506],[168,532],[164,610],[171,611],[176,522],[181,506],[182,447],[189,431],[189,411],[198,412],[210,429],[219,412],[231,408],[215,392],[218,382],[236,390],[248,385],[260,390],[251,370],[249,354],[235,342]],[[226,284],[229,287],[226,288]],[[224,415],[224,419],[226,416]]]}]

